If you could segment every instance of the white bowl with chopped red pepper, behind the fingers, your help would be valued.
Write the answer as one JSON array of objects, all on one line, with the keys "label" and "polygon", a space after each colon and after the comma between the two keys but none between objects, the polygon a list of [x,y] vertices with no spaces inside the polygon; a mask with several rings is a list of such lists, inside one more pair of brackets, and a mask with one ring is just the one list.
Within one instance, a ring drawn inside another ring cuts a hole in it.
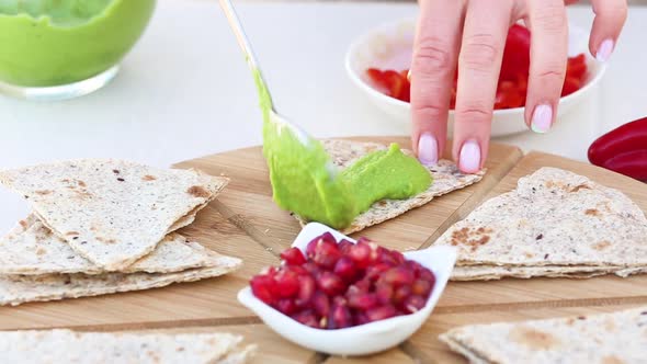
[{"label": "white bowl with chopped red pepper, behind the fingers", "polygon": [[[352,43],[345,55],[345,70],[352,83],[389,118],[410,132],[411,106],[409,104],[409,81],[406,73],[411,65],[415,19],[401,19],[378,25]],[[525,92],[530,56],[520,60],[520,48],[530,53],[530,32],[514,25],[508,35],[497,96],[492,113],[492,136],[504,136],[529,130],[524,123]],[[510,50],[509,50],[510,49]],[[507,52],[509,50],[509,52]],[[600,83],[605,66],[598,62],[588,52],[588,32],[569,24],[569,44],[566,80],[559,99],[557,117],[566,115],[576,105],[593,98],[594,87]],[[521,75],[517,73],[524,64]],[[449,134],[454,123],[453,103],[456,86],[452,90],[449,112]]]}]

